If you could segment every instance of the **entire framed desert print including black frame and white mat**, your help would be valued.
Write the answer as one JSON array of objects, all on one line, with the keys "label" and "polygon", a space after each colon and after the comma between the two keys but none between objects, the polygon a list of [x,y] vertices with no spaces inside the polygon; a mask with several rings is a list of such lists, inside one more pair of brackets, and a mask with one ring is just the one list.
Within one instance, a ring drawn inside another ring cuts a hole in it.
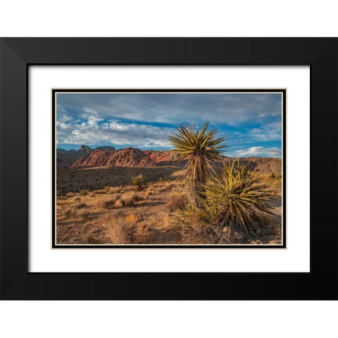
[{"label": "entire framed desert print including black frame and white mat", "polygon": [[337,39],[0,51],[1,299],[337,299]]}]

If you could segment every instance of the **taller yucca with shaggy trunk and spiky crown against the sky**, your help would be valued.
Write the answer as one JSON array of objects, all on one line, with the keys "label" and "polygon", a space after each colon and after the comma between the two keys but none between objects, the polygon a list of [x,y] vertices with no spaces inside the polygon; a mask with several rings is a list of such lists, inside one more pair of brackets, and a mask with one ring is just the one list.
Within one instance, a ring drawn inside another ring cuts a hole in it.
[{"label": "taller yucca with shaggy trunk and spiky crown against the sky", "polygon": [[216,137],[217,130],[207,131],[208,120],[204,123],[201,130],[193,130],[192,127],[177,127],[177,132],[173,132],[168,139],[175,151],[178,152],[177,161],[187,161],[186,182],[188,187],[189,200],[196,204],[199,201],[201,192],[204,188],[201,184],[205,184],[206,175],[212,169],[211,162],[215,162],[220,158],[225,148],[221,142],[225,141],[225,137]]}]

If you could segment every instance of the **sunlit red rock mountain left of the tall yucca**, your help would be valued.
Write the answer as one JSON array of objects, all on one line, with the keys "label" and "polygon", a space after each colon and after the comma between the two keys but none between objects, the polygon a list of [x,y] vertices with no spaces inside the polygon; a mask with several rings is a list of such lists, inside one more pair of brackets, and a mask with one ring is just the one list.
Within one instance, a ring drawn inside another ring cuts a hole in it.
[{"label": "sunlit red rock mountain left of the tall yucca", "polygon": [[71,168],[101,167],[116,165],[120,167],[155,167],[156,163],[143,151],[127,147],[117,151],[96,149],[82,156]]}]

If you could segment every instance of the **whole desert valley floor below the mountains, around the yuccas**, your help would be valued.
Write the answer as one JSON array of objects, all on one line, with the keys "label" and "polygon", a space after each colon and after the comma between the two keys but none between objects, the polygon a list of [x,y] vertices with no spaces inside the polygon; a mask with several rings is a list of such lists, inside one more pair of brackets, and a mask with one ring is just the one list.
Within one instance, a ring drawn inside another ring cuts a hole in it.
[{"label": "whole desert valley floor below the mountains, around the yuccas", "polygon": [[[274,215],[262,215],[257,219],[255,235],[249,239],[234,233],[230,227],[200,227],[177,221],[177,210],[183,208],[187,199],[182,166],[57,170],[56,242],[281,244],[282,177],[280,168],[274,169],[271,165],[263,165],[257,173],[275,196],[272,202]],[[131,178],[137,175],[145,179],[141,191],[130,184]]]}]

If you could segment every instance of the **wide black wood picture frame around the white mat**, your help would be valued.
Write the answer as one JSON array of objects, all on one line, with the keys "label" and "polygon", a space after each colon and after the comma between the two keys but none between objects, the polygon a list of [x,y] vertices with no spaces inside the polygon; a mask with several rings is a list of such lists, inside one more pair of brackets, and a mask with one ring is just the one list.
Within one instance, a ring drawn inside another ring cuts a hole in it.
[{"label": "wide black wood picture frame around the white mat", "polygon": [[[337,47],[336,38],[2,38],[0,298],[337,299]],[[311,272],[29,273],[29,65],[309,65]]]}]

